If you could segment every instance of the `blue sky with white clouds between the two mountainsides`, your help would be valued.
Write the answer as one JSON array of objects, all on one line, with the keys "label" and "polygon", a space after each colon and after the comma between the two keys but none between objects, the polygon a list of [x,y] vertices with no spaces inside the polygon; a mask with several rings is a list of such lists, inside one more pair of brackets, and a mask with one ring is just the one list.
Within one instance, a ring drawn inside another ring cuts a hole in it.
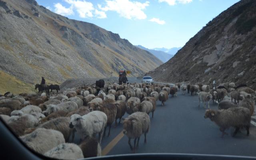
[{"label": "blue sky with white clouds between the two mountainsides", "polygon": [[182,47],[239,0],[37,0],[52,12],[118,33],[146,48]]}]

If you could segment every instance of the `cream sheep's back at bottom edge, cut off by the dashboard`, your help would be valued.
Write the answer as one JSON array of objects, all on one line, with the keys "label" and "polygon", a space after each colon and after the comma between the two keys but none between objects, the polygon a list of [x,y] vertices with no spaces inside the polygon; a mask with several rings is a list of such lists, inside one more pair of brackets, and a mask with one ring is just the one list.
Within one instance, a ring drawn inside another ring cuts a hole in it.
[{"label": "cream sheep's back at bottom edge, cut off by the dashboard", "polygon": [[63,159],[63,160],[76,160],[84,158],[81,148],[73,143],[63,143],[48,150],[44,156]]}]

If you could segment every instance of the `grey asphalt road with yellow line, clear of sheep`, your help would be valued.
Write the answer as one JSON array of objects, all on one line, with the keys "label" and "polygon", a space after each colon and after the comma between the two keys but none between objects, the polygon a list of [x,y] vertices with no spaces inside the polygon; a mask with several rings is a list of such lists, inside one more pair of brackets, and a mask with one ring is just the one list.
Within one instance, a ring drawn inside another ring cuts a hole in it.
[{"label": "grey asphalt road with yellow line, clear of sheep", "polygon": [[[135,80],[135,79],[134,79]],[[131,80],[132,81],[132,80]],[[165,106],[157,101],[154,118],[150,113],[150,131],[147,144],[142,135],[136,153],[190,153],[256,156],[256,127],[251,125],[250,135],[243,129],[232,137],[234,128],[226,130],[228,136],[221,138],[219,127],[204,118],[203,104],[198,108],[198,96],[190,94],[170,98]],[[217,110],[210,102],[210,108]],[[124,115],[126,118],[128,114]],[[79,138],[76,136],[75,142]],[[133,144],[133,140],[131,141]],[[128,138],[122,134],[122,124],[112,128],[110,137],[102,139],[102,155],[130,154]]]}]

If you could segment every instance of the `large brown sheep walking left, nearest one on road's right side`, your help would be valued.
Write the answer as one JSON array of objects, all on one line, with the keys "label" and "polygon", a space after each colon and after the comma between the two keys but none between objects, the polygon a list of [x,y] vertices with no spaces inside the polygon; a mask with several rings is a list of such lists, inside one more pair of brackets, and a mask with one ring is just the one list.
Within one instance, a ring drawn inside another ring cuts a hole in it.
[{"label": "large brown sheep walking left, nearest one on road's right side", "polygon": [[236,128],[233,136],[236,135],[241,127],[246,128],[247,136],[250,134],[251,115],[248,108],[234,107],[227,110],[206,110],[204,118],[210,118],[211,121],[220,126],[221,137],[227,134],[225,130],[231,126]]}]

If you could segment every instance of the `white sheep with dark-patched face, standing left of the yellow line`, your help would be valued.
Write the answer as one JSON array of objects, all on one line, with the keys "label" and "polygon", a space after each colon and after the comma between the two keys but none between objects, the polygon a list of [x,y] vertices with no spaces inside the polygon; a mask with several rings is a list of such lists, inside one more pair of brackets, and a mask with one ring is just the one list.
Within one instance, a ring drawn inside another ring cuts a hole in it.
[{"label": "white sheep with dark-patched face, standing left of the yellow line", "polygon": [[92,111],[84,116],[73,114],[70,117],[70,128],[76,128],[80,139],[84,140],[87,137],[95,136],[99,133],[99,143],[102,140],[102,134],[107,124],[107,116],[101,111]]}]

